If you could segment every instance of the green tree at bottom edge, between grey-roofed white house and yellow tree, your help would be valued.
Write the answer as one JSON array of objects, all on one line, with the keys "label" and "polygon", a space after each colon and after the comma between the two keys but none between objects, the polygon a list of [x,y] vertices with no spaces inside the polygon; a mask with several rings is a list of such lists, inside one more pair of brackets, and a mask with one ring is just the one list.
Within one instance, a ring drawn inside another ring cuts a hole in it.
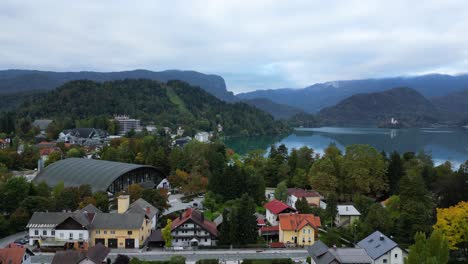
[{"label": "green tree at bottom edge, between grey-roofed white house and yellow tree", "polygon": [[448,263],[449,245],[442,232],[435,230],[428,239],[423,232],[417,232],[414,241],[409,248],[405,264]]}]

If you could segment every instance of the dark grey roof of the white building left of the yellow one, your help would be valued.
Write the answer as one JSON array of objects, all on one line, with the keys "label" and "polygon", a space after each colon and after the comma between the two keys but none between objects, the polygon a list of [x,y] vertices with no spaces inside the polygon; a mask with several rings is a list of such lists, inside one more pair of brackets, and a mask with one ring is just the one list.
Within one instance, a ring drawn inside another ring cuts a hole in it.
[{"label": "dark grey roof of the white building left of the yellow one", "polygon": [[29,219],[27,227],[55,227],[69,217],[85,227],[90,223],[86,215],[81,212],[35,212]]}]

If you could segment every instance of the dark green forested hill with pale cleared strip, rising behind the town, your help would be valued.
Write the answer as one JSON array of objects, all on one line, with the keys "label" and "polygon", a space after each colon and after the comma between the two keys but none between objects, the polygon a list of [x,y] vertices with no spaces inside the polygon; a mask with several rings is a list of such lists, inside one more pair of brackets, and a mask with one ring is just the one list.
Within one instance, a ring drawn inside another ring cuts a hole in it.
[{"label": "dark green forested hill with pale cleared strip, rising behind the town", "polygon": [[226,103],[182,81],[72,81],[25,101],[16,114],[18,118],[53,118],[62,123],[126,114],[159,126],[182,126],[189,133],[214,131],[217,124],[226,135],[275,134],[287,129],[257,108]]}]

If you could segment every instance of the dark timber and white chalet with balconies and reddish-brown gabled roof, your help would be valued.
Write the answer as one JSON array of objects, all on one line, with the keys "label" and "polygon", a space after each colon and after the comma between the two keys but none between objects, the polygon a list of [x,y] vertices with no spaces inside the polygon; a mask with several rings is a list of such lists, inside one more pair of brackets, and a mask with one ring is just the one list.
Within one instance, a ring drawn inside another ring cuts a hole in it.
[{"label": "dark timber and white chalet with balconies and reddish-brown gabled roof", "polygon": [[218,237],[216,224],[206,220],[203,213],[193,208],[174,219],[171,230],[174,246],[214,246]]}]

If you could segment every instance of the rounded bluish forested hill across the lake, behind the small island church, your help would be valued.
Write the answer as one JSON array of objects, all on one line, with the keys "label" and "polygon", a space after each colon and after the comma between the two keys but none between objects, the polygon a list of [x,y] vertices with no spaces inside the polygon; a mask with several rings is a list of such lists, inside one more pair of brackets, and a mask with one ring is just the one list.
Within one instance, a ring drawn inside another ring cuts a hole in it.
[{"label": "rounded bluish forested hill across the lake, behind the small island church", "polygon": [[417,91],[394,88],[350,96],[335,106],[322,109],[318,116],[325,125],[377,126],[393,117],[406,126],[417,127],[439,122],[441,113]]}]

